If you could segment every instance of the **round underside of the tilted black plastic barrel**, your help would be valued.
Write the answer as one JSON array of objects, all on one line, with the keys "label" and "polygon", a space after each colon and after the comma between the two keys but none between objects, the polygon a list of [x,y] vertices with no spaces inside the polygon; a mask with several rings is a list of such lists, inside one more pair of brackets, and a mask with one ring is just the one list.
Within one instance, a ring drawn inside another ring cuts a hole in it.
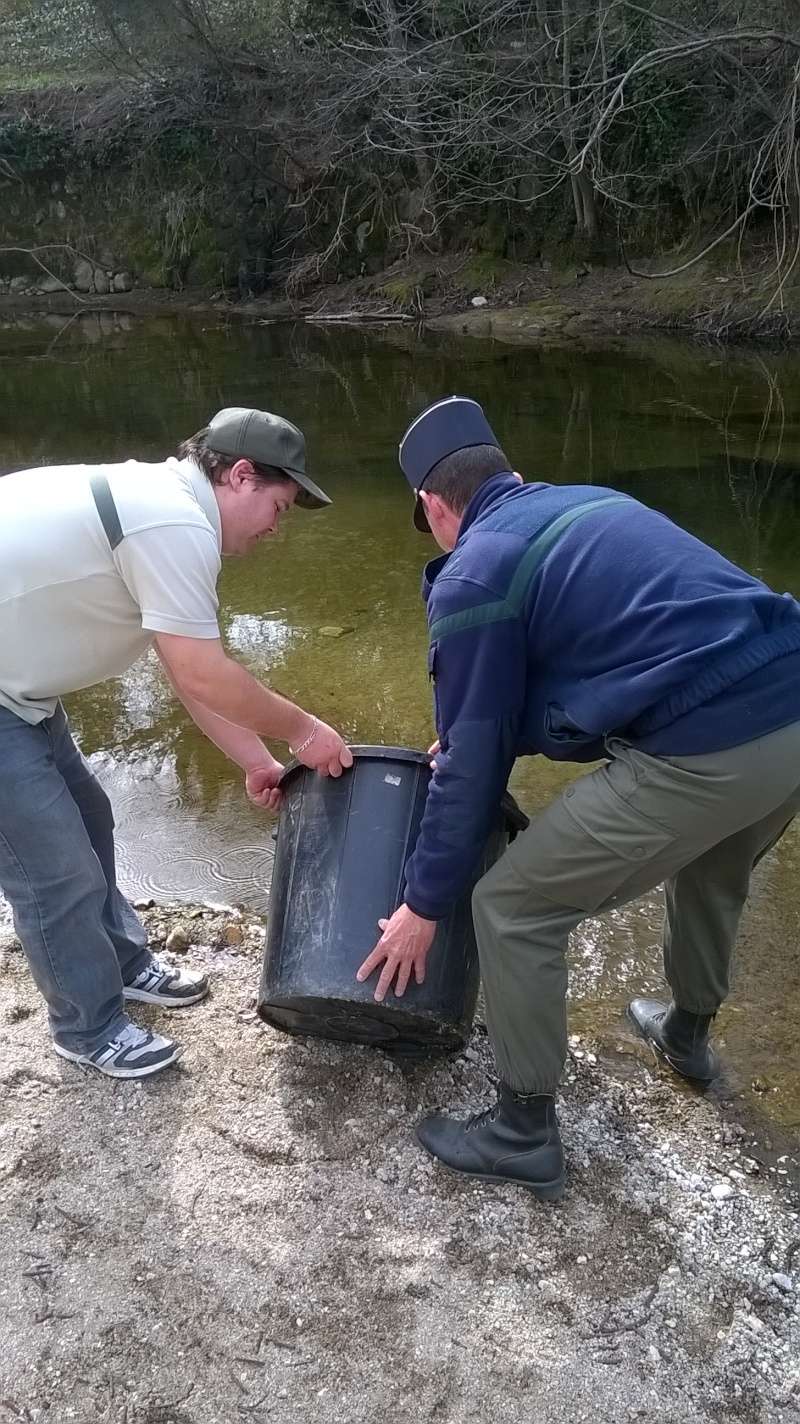
[{"label": "round underside of the tilted black plastic barrel", "polygon": [[409,1061],[457,1052],[467,1041],[465,1028],[441,1022],[433,1014],[414,1014],[374,1002],[292,995],[262,1000],[258,1011],[266,1024],[285,1034],[369,1044]]}]

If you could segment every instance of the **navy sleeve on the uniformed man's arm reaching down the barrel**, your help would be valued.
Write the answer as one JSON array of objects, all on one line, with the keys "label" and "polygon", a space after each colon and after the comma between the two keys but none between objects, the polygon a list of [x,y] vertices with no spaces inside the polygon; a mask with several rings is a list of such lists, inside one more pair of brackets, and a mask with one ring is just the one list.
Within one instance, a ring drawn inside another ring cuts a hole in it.
[{"label": "navy sleeve on the uniformed man's arm reaching down the barrel", "polygon": [[463,627],[431,644],[428,668],[441,752],[406,867],[406,904],[440,920],[478,867],[514,765],[525,705],[525,627],[515,617],[475,625],[465,615]]}]

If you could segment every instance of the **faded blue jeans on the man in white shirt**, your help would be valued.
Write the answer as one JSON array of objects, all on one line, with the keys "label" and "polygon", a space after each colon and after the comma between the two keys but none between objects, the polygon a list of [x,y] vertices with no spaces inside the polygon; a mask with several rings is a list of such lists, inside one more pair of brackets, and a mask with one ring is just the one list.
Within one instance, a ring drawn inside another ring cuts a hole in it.
[{"label": "faded blue jeans on the man in white shirt", "polygon": [[61,705],[37,726],[0,706],[0,889],[53,1038],[94,1052],[124,1025],[122,984],[151,956],[117,889],[111,803]]}]

